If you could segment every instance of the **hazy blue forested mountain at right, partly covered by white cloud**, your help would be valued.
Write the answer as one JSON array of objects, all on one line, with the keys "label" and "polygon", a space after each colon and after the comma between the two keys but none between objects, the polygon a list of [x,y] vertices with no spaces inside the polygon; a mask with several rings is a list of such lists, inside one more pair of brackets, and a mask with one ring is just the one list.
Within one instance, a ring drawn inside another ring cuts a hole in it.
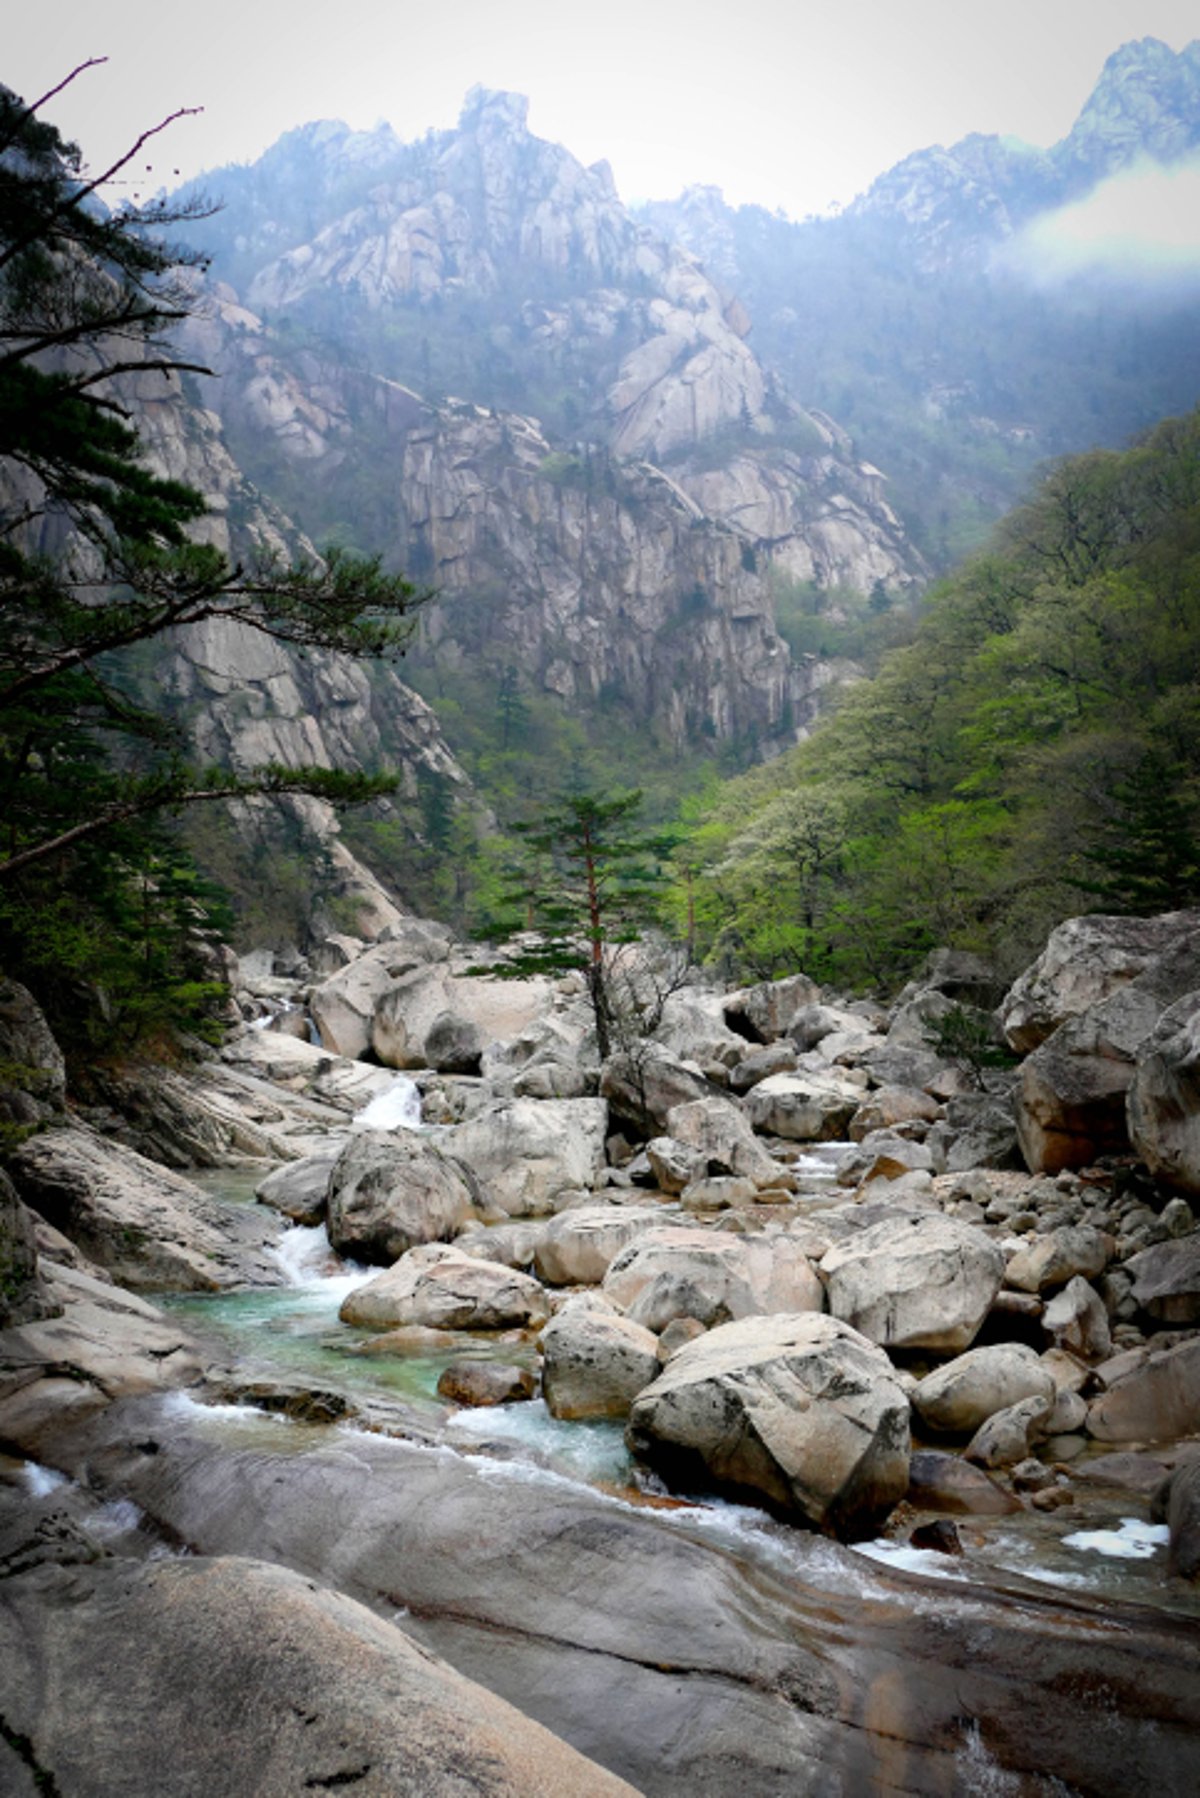
[{"label": "hazy blue forested mountain at right, partly covered by white cloud", "polygon": [[[846,212],[793,223],[689,189],[642,216],[756,318],[763,363],[892,478],[948,566],[1047,457],[1117,446],[1200,397],[1200,275],[1052,279],[1060,209],[1200,153],[1200,41],[1146,38],[1105,65],[1051,149],[972,135],[907,156]],[[1031,236],[1034,227],[1036,236]]]}]

